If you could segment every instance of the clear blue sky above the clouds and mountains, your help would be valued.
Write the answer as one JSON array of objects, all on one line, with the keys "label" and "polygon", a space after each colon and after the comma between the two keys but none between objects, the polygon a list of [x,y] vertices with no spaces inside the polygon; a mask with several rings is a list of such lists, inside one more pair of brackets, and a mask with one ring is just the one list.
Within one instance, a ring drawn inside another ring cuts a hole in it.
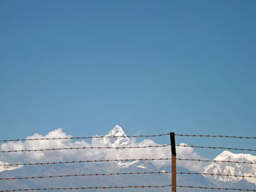
[{"label": "clear blue sky above the clouds and mountains", "polygon": [[255,0],[0,1],[0,139],[116,124],[127,134],[255,136],[255,9]]}]

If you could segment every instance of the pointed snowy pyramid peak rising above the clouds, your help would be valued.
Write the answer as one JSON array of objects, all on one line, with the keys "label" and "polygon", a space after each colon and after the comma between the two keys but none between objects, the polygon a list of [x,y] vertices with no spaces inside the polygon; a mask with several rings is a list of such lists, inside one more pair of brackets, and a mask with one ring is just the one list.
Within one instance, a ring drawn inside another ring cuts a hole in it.
[{"label": "pointed snowy pyramid peak rising above the clouds", "polygon": [[106,138],[104,138],[104,142],[105,145],[108,146],[124,146],[130,143],[130,139],[127,137],[127,134],[125,134],[124,130],[118,125],[111,129],[105,136]]}]

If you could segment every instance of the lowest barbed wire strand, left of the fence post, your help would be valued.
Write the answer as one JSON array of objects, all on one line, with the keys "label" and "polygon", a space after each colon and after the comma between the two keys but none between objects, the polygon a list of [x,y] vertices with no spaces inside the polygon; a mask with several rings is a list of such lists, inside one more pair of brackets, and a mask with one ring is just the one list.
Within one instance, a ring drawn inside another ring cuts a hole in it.
[{"label": "lowest barbed wire strand, left of the fence post", "polygon": [[47,191],[47,190],[86,190],[86,189],[108,189],[108,188],[167,188],[171,185],[129,185],[129,186],[110,186],[110,187],[83,187],[83,188],[20,188],[2,190],[0,192],[10,191]]}]

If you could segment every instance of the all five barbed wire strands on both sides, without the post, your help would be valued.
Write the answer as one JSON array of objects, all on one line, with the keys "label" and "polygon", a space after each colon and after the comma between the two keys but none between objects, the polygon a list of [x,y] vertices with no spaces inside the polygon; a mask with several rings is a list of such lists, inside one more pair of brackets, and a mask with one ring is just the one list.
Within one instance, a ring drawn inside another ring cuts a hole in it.
[{"label": "all five barbed wire strands on both sides, without the post", "polygon": [[[52,138],[30,138],[30,139],[9,139],[0,140],[0,142],[18,142],[18,141],[37,141],[37,140],[57,140],[57,139],[101,139],[101,138],[118,138],[118,137],[162,137],[167,134],[157,135],[133,135],[133,136],[95,136],[95,137],[52,137]],[[224,137],[236,139],[256,139],[256,137],[238,137],[238,136],[223,136],[223,135],[189,135],[189,134],[175,134],[180,137]],[[0,153],[15,153],[15,152],[37,152],[50,150],[83,150],[83,149],[136,149],[149,147],[167,147],[170,145],[147,145],[147,146],[123,146],[123,147],[58,147],[46,149],[25,149],[25,150],[1,150]],[[177,147],[197,147],[205,149],[221,149],[221,150],[246,150],[256,151],[256,149],[233,148],[233,147],[211,147],[211,146],[197,146],[197,145],[176,145]],[[75,164],[75,163],[100,163],[100,162],[118,162],[118,161],[169,161],[172,158],[127,158],[127,159],[101,159],[101,160],[83,160],[83,161],[56,161],[56,162],[42,162],[42,163],[24,163],[24,164],[0,164],[0,166],[34,166],[34,165],[50,165],[50,164]],[[256,164],[256,162],[243,161],[218,161],[194,158],[176,158],[178,161],[202,161],[202,162],[219,162],[232,164]],[[171,172],[115,172],[115,173],[88,173],[88,174],[62,174],[62,175],[48,175],[48,176],[29,176],[29,177],[5,177],[0,180],[29,180],[29,179],[46,179],[56,177],[86,177],[86,176],[112,176],[112,175],[128,175],[128,174],[171,174]],[[214,173],[200,173],[200,172],[176,172],[176,174],[195,174],[195,175],[209,175],[209,176],[224,176],[224,177],[250,177],[256,178],[255,175],[238,175],[238,174],[214,174]],[[129,186],[106,186],[106,187],[80,187],[80,188],[18,188],[2,190],[0,192],[10,191],[67,191],[67,190],[89,190],[89,189],[111,189],[111,188],[165,188],[172,185],[129,185]],[[223,190],[223,191],[256,191],[255,189],[246,188],[214,188],[192,185],[176,185],[179,188],[197,188],[206,190]]]}]

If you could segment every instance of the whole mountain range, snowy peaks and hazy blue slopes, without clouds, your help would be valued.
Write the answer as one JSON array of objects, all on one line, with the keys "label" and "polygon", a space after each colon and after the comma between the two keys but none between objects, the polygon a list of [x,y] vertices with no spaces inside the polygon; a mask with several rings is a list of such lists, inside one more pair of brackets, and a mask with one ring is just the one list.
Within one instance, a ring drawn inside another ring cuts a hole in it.
[{"label": "whole mountain range, snowy peaks and hazy blue slopes, without clouds", "polygon": [[[106,136],[123,136],[118,138],[104,138],[107,146],[130,145],[131,140],[121,127],[116,126]],[[157,158],[157,155],[156,155]],[[246,161],[256,163],[256,156],[249,154],[235,154],[224,151],[214,158],[214,161]],[[54,164],[42,166],[23,166],[19,169],[0,172],[0,178],[7,177],[37,177],[49,175],[67,174],[95,174],[117,172],[170,172],[170,166],[156,166],[150,161],[105,162],[105,163],[81,163],[81,164]],[[188,169],[177,168],[177,172],[189,172]],[[256,175],[255,164],[230,164],[223,162],[211,162],[204,173]],[[86,176],[86,177],[56,177],[28,180],[0,180],[0,191],[19,188],[76,188],[76,187],[100,187],[100,186],[129,186],[129,185],[168,185],[170,174],[127,174],[111,176]],[[193,185],[214,188],[256,188],[255,178],[227,177],[177,174],[177,185]],[[89,191],[149,191],[169,192],[170,188],[129,188],[129,189],[91,189]],[[178,188],[177,191],[206,191],[192,188]]]}]

